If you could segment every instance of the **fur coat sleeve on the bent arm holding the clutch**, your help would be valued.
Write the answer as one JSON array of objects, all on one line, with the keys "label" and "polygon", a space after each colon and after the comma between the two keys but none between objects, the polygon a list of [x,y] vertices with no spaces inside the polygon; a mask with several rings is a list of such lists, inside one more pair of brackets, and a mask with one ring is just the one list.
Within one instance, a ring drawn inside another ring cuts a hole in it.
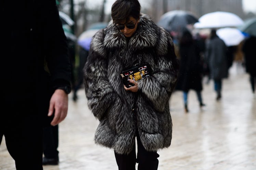
[{"label": "fur coat sleeve on the bent arm holding the clutch", "polygon": [[138,82],[139,91],[143,93],[160,112],[169,101],[178,77],[179,61],[174,52],[174,45],[165,30],[160,31],[156,51],[156,68],[154,74]]}]

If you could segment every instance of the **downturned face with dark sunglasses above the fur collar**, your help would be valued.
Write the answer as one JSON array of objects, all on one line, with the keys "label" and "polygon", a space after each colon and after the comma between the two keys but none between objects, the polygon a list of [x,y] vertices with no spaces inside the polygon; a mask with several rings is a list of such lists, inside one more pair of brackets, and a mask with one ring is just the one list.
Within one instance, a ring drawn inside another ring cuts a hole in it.
[{"label": "downturned face with dark sunglasses above the fur collar", "polygon": [[126,20],[124,20],[123,22],[117,24],[117,28],[120,29],[120,31],[124,34],[125,37],[131,37],[136,31],[138,23],[138,19],[135,19],[132,16],[130,16],[127,23]]}]

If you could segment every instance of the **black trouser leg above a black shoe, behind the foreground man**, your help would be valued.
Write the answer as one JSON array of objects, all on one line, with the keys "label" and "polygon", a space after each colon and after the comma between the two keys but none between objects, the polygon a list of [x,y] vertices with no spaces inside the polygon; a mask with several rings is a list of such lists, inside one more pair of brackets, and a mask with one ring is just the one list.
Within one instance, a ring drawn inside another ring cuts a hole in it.
[{"label": "black trouser leg above a black shoe, behind the foreground man", "polygon": [[43,128],[43,154],[46,158],[58,158],[59,127],[48,126]]}]

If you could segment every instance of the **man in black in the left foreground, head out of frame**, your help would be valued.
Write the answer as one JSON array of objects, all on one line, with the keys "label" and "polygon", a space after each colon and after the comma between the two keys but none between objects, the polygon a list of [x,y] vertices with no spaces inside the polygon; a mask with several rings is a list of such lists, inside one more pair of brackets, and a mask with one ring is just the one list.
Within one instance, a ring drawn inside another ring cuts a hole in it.
[{"label": "man in black in the left foreground, head out of frame", "polygon": [[16,169],[42,170],[42,128],[67,115],[70,62],[55,0],[0,2],[4,135]]}]

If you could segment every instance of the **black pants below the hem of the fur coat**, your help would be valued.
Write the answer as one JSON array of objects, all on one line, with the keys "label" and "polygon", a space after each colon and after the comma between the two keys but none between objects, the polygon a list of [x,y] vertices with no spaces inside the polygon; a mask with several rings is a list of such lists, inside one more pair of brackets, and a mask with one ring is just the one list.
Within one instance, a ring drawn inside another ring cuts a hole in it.
[{"label": "black pants below the hem of the fur coat", "polygon": [[157,152],[146,151],[141,143],[140,137],[137,133],[138,153],[136,159],[136,145],[134,144],[132,151],[126,154],[117,154],[115,152],[118,170],[135,170],[135,164],[138,163],[138,170],[157,170],[158,157]]}]

